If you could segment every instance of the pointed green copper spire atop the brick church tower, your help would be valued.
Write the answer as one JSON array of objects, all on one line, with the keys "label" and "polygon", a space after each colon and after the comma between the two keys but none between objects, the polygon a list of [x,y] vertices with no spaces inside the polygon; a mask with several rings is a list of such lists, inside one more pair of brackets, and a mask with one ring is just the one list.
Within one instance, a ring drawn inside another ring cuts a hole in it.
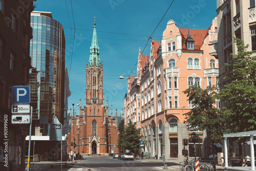
[{"label": "pointed green copper spire atop the brick church tower", "polygon": [[90,59],[89,63],[91,66],[99,66],[100,63],[100,58],[99,58],[99,46],[98,46],[98,40],[97,40],[97,33],[96,33],[96,23],[94,18],[94,23],[93,23],[93,38],[92,38],[92,45],[90,47]]}]

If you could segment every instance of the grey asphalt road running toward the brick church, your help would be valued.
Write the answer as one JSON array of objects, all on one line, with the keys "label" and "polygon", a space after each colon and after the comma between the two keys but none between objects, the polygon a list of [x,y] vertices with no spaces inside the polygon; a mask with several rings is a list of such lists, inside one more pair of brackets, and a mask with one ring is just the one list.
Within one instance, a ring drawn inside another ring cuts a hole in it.
[{"label": "grey asphalt road running toward the brick church", "polygon": [[[113,159],[111,156],[86,156],[82,160],[76,160],[75,163],[63,162],[62,170],[163,170],[164,164],[161,161],[134,160],[123,161]],[[179,170],[177,162],[166,162],[167,170]],[[53,171],[61,170],[60,162],[38,162],[31,164],[30,170]]]}]

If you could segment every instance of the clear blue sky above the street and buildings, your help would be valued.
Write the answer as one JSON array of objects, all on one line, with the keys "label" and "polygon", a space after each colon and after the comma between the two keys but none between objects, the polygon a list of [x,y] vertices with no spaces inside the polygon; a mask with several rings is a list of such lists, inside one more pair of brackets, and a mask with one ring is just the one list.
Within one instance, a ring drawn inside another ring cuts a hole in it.
[{"label": "clear blue sky above the street and buildings", "polygon": [[[79,99],[82,106],[84,105],[86,63],[89,60],[92,41],[93,17],[97,17],[96,29],[100,60],[103,62],[105,104],[106,99],[109,99],[113,113],[115,114],[117,109],[120,115],[121,109],[124,109],[123,98],[127,92],[127,76],[134,76],[136,73],[139,47],[142,52],[148,37],[171,3],[172,0],[37,0],[34,2],[35,11],[52,12],[53,19],[64,27],[66,67],[71,91],[68,99],[69,109],[72,108],[72,103],[78,104]],[[216,0],[175,0],[152,39],[161,40],[170,19],[173,19],[179,28],[207,29],[216,15]],[[149,41],[143,52],[144,55],[150,55],[150,45]],[[119,79],[120,75],[123,75],[124,79]],[[76,111],[78,112],[77,109]]]}]

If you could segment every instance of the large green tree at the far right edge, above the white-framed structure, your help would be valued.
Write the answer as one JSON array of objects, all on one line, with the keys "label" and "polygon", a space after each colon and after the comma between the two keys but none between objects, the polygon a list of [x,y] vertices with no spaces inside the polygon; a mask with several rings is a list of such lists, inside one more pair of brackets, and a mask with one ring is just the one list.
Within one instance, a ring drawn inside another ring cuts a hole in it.
[{"label": "large green tree at the far right edge, above the white-framed structure", "polygon": [[230,54],[232,69],[224,79],[228,84],[220,91],[220,99],[226,102],[223,108],[228,133],[256,129],[256,56],[247,51],[248,45],[234,37],[238,52]]}]

